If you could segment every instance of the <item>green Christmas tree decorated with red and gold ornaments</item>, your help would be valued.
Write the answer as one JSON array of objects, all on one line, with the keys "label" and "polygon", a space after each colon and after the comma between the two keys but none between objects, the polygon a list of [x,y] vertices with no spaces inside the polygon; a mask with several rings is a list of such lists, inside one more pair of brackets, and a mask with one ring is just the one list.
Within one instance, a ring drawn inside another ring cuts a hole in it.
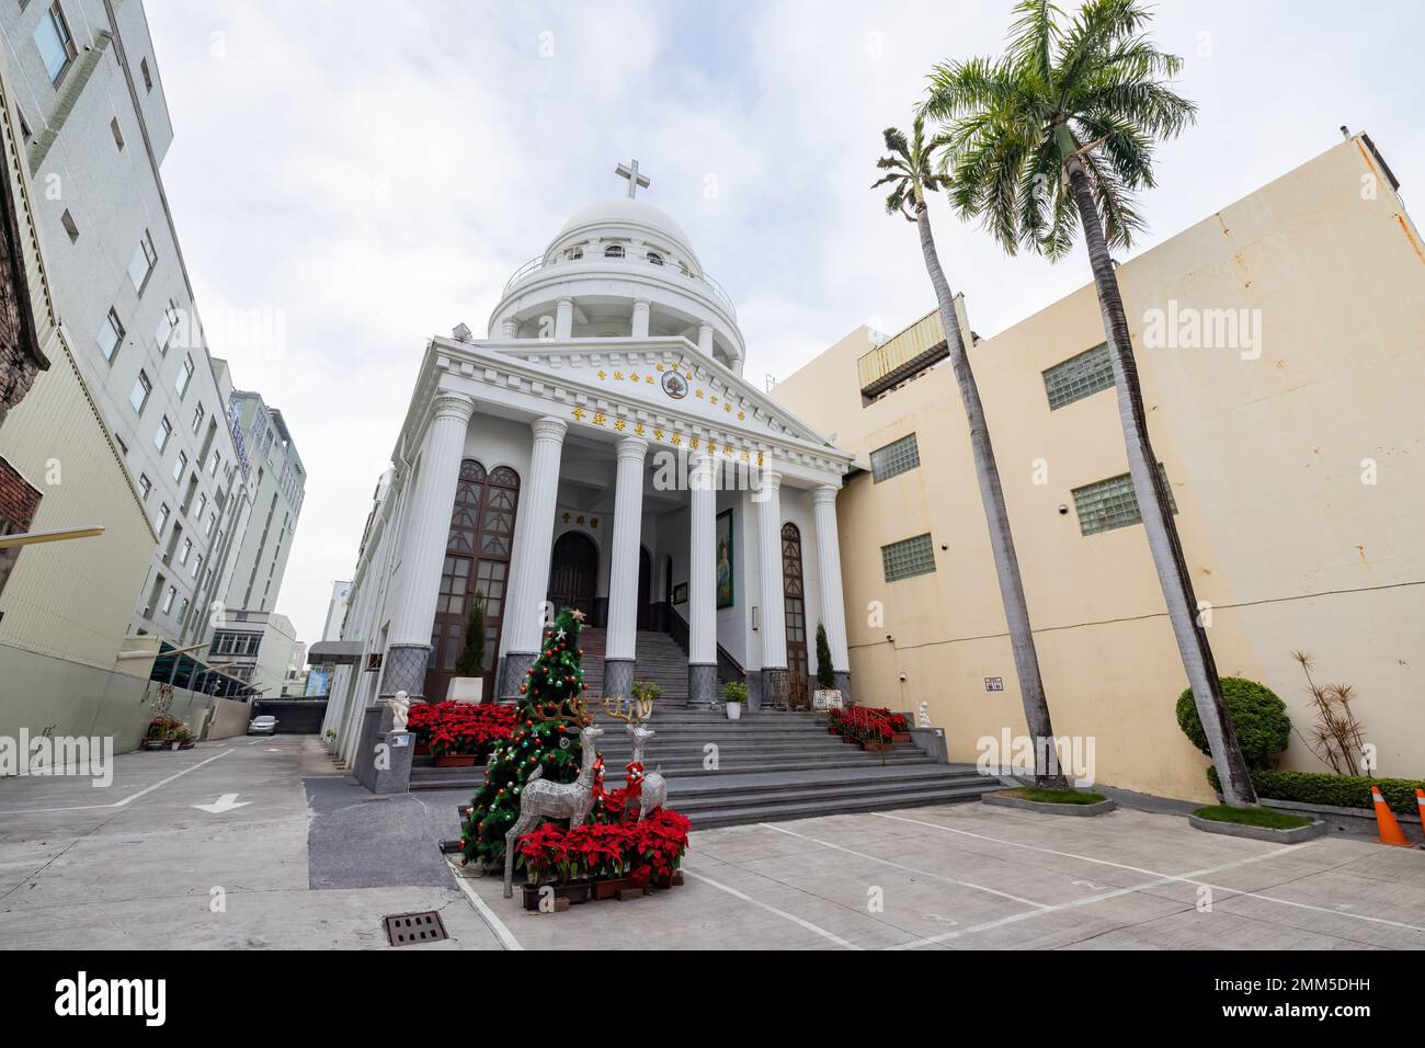
[{"label": "green Christmas tree decorated with red and gold ornaments", "polygon": [[530,666],[520,699],[514,733],[490,754],[484,786],[470,803],[463,826],[462,854],[467,863],[492,865],[504,856],[504,834],[520,814],[520,790],[534,769],[554,783],[579,777],[579,729],[569,720],[570,700],[586,690],[583,652],[579,647],[583,612],[566,607],[544,630],[543,647]]}]

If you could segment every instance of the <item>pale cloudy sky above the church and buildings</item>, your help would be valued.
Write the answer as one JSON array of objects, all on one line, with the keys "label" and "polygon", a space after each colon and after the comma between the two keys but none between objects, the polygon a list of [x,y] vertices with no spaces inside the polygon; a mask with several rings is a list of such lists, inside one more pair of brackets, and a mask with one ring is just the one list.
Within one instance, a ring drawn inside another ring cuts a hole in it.
[{"label": "pale cloudy sky above the church and buildings", "polygon": [[[935,61],[998,51],[1010,6],[147,0],[200,312],[284,319],[282,354],[209,335],[286,415],[309,472],[278,607],[299,637],[318,639],[331,580],[349,577],[425,339],[483,334],[510,272],[620,195],[617,161],[638,158],[647,198],[732,294],[748,378],[922,315],[912,227],[868,188],[881,128],[909,123]],[[1425,6],[1181,0],[1156,34],[1201,113],[1160,151],[1140,250],[1341,124],[1371,133],[1406,200],[1425,180]],[[1009,260],[935,217],[982,335],[1089,279],[1077,255]]]}]

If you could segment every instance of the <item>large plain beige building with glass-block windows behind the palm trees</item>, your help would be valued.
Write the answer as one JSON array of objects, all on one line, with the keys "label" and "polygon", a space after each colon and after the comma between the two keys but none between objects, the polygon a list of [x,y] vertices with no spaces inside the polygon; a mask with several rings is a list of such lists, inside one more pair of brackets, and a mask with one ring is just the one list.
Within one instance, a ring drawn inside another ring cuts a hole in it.
[{"label": "large plain beige building with glass-block windows behind the palm trees", "polygon": [[[1270,686],[1307,733],[1291,653],[1310,653],[1318,680],[1355,687],[1381,774],[1421,776],[1425,248],[1389,168],[1349,138],[1124,262],[1119,281],[1220,672]],[[1054,730],[1093,737],[1100,783],[1207,798],[1208,761],[1174,719],[1187,682],[1102,344],[1086,285],[970,351]],[[940,354],[935,317],[879,346],[862,328],[774,396],[868,471],[838,499],[856,699],[928,703],[968,761],[982,736],[1025,721]],[[1282,766],[1324,769],[1300,737]]]}]

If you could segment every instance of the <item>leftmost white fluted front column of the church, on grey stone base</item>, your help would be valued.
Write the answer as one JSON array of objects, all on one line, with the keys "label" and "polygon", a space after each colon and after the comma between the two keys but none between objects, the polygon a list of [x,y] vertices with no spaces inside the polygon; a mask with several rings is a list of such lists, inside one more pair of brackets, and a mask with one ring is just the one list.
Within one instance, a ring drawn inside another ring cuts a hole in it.
[{"label": "leftmost white fluted front column of the church, on grey stone base", "polygon": [[398,690],[425,694],[425,663],[440,596],[450,506],[460,483],[465,435],[473,412],[475,401],[463,394],[437,392],[435,396],[435,415],[426,429],[412,495],[415,512],[406,515],[399,536],[400,593],[390,616],[382,694]]}]

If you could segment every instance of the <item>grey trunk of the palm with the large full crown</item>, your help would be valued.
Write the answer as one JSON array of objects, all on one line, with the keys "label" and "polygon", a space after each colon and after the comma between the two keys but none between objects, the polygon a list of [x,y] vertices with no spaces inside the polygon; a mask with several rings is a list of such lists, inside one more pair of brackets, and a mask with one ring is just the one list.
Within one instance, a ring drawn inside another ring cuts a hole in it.
[{"label": "grey trunk of the palm with the large full crown", "polygon": [[1119,294],[1119,278],[1109,258],[1109,245],[1103,235],[1103,222],[1093,200],[1093,187],[1084,171],[1083,160],[1070,155],[1064,164],[1069,185],[1079,207],[1079,221],[1083,224],[1084,244],[1089,247],[1089,262],[1093,267],[1093,285],[1099,295],[1099,309],[1103,314],[1103,334],[1113,359],[1113,382],[1119,391],[1119,418],[1123,422],[1123,439],[1129,451],[1129,476],[1133,493],[1143,515],[1143,528],[1153,552],[1159,583],[1167,600],[1173,635],[1187,670],[1187,683],[1193,689],[1193,702],[1207,734],[1213,763],[1221,784],[1223,800],[1245,807],[1257,803],[1257,791],[1247,774],[1247,761],[1237,746],[1237,733],[1227,716],[1223,702],[1223,684],[1217,677],[1217,663],[1207,642],[1207,630],[1197,617],[1197,596],[1193,592],[1193,577],[1183,556],[1183,543],[1173,520],[1167,482],[1159,469],[1157,456],[1149,441],[1147,413],[1143,409],[1143,389],[1139,385],[1139,371],[1133,359],[1133,342],[1129,337],[1129,322],[1123,312],[1123,297]]}]

